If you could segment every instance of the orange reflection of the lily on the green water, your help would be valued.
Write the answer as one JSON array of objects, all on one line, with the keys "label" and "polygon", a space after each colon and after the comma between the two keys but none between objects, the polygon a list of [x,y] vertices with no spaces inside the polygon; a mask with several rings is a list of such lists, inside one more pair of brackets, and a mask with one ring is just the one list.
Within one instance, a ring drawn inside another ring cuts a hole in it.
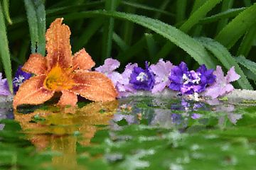
[{"label": "orange reflection of the lily on the green water", "polygon": [[[38,150],[48,147],[58,156],[53,165],[65,169],[82,169],[76,162],[76,145],[90,145],[90,139],[100,130],[96,125],[108,125],[118,106],[117,101],[90,103],[83,108],[48,108],[23,114],[15,112],[23,132]],[[82,136],[82,137],[80,137]]]}]

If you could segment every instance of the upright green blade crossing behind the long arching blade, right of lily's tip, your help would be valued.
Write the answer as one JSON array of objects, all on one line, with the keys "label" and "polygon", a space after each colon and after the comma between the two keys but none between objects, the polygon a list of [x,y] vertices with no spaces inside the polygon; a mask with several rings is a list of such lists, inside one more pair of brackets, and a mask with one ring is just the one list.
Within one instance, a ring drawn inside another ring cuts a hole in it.
[{"label": "upright green blade crossing behind the long arching blade, right of lily's tip", "polygon": [[[105,1],[106,11],[114,11],[117,5],[117,0]],[[109,58],[112,50],[112,37],[114,30],[114,18],[108,18],[104,24],[103,42],[102,42],[102,62]]]}]

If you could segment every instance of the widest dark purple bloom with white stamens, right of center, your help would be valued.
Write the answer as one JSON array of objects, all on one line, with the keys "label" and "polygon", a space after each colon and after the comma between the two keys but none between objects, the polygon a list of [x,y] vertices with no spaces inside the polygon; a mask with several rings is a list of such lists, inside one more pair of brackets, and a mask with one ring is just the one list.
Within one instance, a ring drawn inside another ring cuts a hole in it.
[{"label": "widest dark purple bloom with white stamens, right of center", "polygon": [[188,71],[188,67],[184,62],[171,70],[169,77],[171,84],[169,88],[174,91],[181,91],[181,94],[201,93],[206,90],[206,86],[213,84],[215,75],[213,69],[206,69],[206,66],[201,65],[196,72]]}]

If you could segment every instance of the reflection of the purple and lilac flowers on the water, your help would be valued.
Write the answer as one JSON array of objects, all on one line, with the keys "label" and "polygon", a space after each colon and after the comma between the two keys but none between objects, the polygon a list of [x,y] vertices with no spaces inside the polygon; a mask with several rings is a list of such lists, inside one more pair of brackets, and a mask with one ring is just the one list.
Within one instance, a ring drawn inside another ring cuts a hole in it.
[{"label": "reflection of the purple and lilac flowers on the water", "polygon": [[[114,115],[112,128],[119,130],[117,122],[124,119],[128,125],[139,124],[138,115],[141,119],[148,120],[148,125],[157,125],[162,128],[187,128],[188,123],[198,120],[199,124],[205,125],[211,118],[217,118],[219,125],[223,127],[224,121],[228,118],[235,124],[242,118],[241,114],[233,113],[235,106],[223,104],[219,101],[186,101],[168,100],[166,98],[149,98],[146,103],[141,103],[141,98],[133,98],[124,102]],[[129,111],[125,109],[129,108]],[[207,113],[207,114],[206,114]]]}]

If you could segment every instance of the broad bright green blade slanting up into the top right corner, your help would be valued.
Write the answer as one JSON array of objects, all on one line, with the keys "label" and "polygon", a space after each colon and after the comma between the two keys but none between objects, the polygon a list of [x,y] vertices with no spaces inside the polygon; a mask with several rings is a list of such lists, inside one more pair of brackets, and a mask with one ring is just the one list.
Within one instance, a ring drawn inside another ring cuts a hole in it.
[{"label": "broad bright green blade slanting up into the top right corner", "polygon": [[242,35],[256,23],[256,4],[242,11],[237,17],[230,21],[220,33],[216,36],[215,40],[230,49],[235,45]]}]

